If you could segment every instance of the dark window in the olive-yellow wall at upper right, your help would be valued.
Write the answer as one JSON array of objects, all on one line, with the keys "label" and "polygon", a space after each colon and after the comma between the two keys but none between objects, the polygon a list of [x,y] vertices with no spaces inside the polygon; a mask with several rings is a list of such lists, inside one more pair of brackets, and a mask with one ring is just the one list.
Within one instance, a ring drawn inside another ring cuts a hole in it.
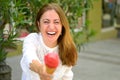
[{"label": "dark window in the olive-yellow wall at upper right", "polygon": [[113,27],[116,20],[117,0],[102,0],[102,27]]}]

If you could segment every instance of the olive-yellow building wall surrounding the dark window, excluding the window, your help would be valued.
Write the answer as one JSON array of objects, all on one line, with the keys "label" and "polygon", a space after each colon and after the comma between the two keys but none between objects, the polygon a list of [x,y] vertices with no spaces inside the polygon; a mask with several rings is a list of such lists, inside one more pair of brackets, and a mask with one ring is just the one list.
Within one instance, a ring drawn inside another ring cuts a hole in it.
[{"label": "olive-yellow building wall surrounding the dark window, excluding the window", "polygon": [[102,28],[102,0],[93,2],[93,8],[88,12],[87,18],[90,21],[90,29],[96,31],[95,40],[117,37],[117,31],[114,27]]}]

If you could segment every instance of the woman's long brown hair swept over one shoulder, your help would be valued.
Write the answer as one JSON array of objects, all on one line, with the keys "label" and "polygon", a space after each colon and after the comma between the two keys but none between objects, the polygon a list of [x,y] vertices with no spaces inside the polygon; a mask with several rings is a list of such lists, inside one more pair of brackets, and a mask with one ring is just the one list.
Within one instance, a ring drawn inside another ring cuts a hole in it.
[{"label": "woman's long brown hair swept over one shoulder", "polygon": [[63,65],[73,66],[77,61],[77,50],[73,39],[70,34],[70,28],[68,20],[65,16],[65,13],[61,9],[61,7],[56,3],[49,3],[44,5],[38,12],[36,17],[36,26],[38,28],[37,22],[40,20],[41,16],[48,10],[55,10],[61,20],[62,23],[62,34],[59,36],[58,45],[59,45],[59,56]]}]

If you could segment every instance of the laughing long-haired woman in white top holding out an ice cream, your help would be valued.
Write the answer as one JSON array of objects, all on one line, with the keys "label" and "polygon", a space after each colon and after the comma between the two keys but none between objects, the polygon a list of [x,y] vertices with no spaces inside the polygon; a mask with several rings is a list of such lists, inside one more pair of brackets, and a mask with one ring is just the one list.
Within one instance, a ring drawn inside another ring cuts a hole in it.
[{"label": "laughing long-haired woman in white top holding out an ice cream", "polygon": [[[77,50],[61,7],[55,3],[44,5],[37,14],[36,26],[38,33],[29,34],[23,43],[22,80],[72,80]],[[50,52],[58,53],[60,58],[52,75],[44,67],[44,56]]]}]

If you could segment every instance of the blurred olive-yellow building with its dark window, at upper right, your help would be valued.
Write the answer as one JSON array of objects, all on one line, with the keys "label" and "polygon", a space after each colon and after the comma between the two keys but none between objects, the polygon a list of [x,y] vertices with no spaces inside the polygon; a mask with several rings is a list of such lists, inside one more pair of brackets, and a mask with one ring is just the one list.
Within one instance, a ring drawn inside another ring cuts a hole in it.
[{"label": "blurred olive-yellow building with its dark window, at upper right", "polygon": [[[119,1],[120,2],[120,1]],[[97,0],[93,2],[93,8],[88,12],[89,27],[96,31],[95,39],[117,38],[120,25],[120,7],[117,0]],[[117,11],[117,12],[116,12]]]}]

